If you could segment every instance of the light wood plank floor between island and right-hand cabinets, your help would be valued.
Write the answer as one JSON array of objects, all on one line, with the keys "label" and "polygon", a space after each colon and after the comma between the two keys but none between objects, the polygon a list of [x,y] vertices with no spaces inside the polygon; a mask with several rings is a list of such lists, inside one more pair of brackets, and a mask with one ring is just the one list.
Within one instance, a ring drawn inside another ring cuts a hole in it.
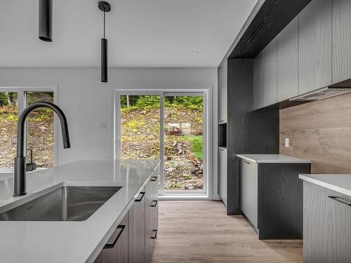
[{"label": "light wood plank floor between island and right-hand cabinets", "polygon": [[259,241],[218,201],[159,201],[153,263],[302,262],[302,241]]}]

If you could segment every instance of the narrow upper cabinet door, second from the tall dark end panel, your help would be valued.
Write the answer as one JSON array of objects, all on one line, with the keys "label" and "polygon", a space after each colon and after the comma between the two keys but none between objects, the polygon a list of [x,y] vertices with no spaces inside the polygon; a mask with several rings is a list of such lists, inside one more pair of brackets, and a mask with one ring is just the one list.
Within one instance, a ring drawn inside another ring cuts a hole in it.
[{"label": "narrow upper cabinet door, second from the tall dark end panel", "polygon": [[277,102],[277,41],[273,39],[264,51],[263,105]]}]

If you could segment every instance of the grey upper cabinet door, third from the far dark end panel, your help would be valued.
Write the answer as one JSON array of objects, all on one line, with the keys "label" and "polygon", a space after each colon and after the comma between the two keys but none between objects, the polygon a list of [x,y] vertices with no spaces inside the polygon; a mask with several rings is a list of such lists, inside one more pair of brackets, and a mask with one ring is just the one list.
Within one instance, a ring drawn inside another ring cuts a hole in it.
[{"label": "grey upper cabinet door, third from the far dark end panel", "polygon": [[298,95],[298,17],[277,36],[278,102]]}]

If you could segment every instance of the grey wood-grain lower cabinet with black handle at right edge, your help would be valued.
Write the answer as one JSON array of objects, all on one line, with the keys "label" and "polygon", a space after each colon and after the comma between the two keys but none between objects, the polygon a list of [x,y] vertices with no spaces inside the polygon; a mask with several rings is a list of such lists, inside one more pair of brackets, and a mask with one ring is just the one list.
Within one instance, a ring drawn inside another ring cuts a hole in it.
[{"label": "grey wood-grain lower cabinet with black handle at right edge", "polygon": [[303,182],[303,262],[351,262],[351,196]]}]

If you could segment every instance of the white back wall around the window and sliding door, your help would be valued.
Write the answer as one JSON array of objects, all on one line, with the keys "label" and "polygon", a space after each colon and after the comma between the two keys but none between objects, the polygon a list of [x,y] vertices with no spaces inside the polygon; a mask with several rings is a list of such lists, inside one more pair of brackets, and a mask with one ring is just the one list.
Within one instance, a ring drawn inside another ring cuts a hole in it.
[{"label": "white back wall around the window and sliding door", "polygon": [[[112,68],[109,83],[99,68],[0,68],[0,87],[58,86],[58,105],[67,116],[71,149],[62,149],[58,134],[57,163],[80,159],[112,159],[113,90],[122,88],[213,88],[213,197],[217,197],[217,69]],[[107,123],[101,129],[100,123]],[[210,160],[211,161],[211,160]]]}]

